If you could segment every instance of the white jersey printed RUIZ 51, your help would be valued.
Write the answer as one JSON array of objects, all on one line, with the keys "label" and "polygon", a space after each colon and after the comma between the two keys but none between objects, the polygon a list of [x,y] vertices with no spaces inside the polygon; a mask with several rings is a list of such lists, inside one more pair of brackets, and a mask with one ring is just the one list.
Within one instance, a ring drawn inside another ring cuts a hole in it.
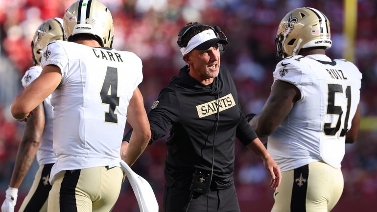
[{"label": "white jersey printed RUIZ 51", "polygon": [[315,161],[341,166],[361,78],[353,63],[322,54],[292,56],[277,64],[274,82],[291,83],[301,92],[301,99],[268,137],[268,150],[282,171]]}]

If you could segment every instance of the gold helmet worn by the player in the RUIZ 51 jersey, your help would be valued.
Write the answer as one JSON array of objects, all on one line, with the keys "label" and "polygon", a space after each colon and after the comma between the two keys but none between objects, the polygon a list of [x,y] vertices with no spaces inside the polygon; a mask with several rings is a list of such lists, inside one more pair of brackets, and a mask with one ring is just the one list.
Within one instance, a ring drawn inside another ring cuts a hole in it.
[{"label": "gold helmet worn by the player in the RUIZ 51 jersey", "polygon": [[276,56],[283,59],[299,54],[302,48],[331,47],[330,22],[317,9],[296,8],[279,24],[275,38]]}]

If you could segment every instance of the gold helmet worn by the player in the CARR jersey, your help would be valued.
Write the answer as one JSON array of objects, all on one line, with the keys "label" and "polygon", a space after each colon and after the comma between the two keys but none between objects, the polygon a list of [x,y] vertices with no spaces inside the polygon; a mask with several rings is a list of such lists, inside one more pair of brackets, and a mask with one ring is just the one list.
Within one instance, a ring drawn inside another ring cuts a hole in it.
[{"label": "gold helmet worn by the player in the CARR jersey", "polygon": [[113,45],[113,17],[98,0],[77,0],[67,9],[63,20],[68,41],[75,34],[92,34],[102,42],[102,47]]}]

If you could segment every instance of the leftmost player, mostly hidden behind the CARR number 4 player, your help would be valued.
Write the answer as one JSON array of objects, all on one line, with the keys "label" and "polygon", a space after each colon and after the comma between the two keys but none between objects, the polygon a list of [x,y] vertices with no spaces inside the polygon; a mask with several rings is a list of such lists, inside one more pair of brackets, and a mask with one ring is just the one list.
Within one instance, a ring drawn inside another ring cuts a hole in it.
[{"label": "leftmost player, mostly hidden behind the CARR number 4 player", "polygon": [[[42,50],[48,43],[55,40],[64,40],[63,20],[61,18],[48,19],[35,31],[33,40],[31,41],[31,50],[35,66],[25,72],[22,78],[24,88],[30,85],[41,73]],[[35,156],[37,156],[39,169],[19,212],[47,212],[47,197],[51,189],[48,180],[51,167],[56,161],[56,156],[52,151],[53,111],[50,98],[50,95],[47,96],[47,98],[33,110],[34,115],[26,122],[9,188],[5,192],[5,200],[1,206],[2,212],[14,211],[18,188],[24,180],[26,172],[29,170]]]}]

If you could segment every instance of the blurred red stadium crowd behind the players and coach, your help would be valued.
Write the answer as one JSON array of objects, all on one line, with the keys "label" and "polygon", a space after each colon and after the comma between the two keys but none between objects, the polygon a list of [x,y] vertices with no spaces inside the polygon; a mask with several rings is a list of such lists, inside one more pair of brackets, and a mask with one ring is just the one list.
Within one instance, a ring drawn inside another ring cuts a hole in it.
[{"label": "blurred red stadium crowd behind the players and coach", "polygon": [[[30,41],[37,26],[62,17],[74,0],[0,0],[0,201],[14,165],[24,123],[14,121],[9,105],[21,91],[21,77],[32,66]],[[219,25],[229,45],[222,65],[232,73],[243,112],[257,113],[265,102],[276,65],[274,37],[283,16],[296,7],[321,10],[330,20],[332,58],[353,61],[363,73],[362,123],[358,139],[347,144],[343,160],[345,188],[333,212],[377,208],[377,1],[376,0],[102,0],[113,14],[114,46],[139,55],[145,107],[184,65],[176,45],[188,22]],[[347,8],[347,9],[345,9]],[[356,9],[357,8],[357,9]],[[347,11],[347,13],[345,13]],[[356,14],[357,12],[357,14]],[[354,22],[354,23],[353,23]],[[354,47],[354,48],[353,48]],[[104,132],[107,133],[107,132]],[[148,146],[133,169],[149,181],[162,209],[165,140]],[[16,209],[30,187],[34,163],[20,191]],[[242,212],[267,212],[273,204],[269,179],[259,158],[236,142],[235,181]],[[138,212],[128,182],[114,212]],[[162,211],[162,210],[161,210]]]}]

